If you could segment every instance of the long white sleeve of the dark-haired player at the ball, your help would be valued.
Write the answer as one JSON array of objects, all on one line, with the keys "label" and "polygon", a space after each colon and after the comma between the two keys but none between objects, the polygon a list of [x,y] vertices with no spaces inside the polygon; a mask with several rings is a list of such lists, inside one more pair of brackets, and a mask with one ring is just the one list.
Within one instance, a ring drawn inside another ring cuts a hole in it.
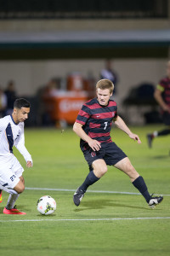
[{"label": "long white sleeve of the dark-haired player at the ball", "polygon": [[26,162],[31,161],[32,163],[31,154],[28,152],[25,146],[24,125],[21,127],[20,136],[14,142],[14,146],[20,151],[20,154],[24,156]]}]

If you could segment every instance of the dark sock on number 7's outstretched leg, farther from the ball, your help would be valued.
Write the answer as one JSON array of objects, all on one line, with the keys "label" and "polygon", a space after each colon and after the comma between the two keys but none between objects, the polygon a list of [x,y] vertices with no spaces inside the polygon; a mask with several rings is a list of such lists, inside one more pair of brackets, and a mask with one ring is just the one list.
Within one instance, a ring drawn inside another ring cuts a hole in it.
[{"label": "dark sock on number 7's outstretched leg, farther from the ball", "polygon": [[144,196],[145,201],[147,201],[147,203],[149,203],[151,196],[150,196],[150,194],[148,192],[146,184],[144,183],[144,178],[141,177],[141,176],[137,177],[133,181],[133,186],[136,189],[139,189],[139,192]]}]

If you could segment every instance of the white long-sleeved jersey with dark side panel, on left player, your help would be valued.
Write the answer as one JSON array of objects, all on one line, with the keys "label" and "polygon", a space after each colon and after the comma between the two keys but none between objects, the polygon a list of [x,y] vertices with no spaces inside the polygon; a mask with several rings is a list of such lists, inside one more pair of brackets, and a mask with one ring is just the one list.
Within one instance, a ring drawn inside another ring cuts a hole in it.
[{"label": "white long-sleeved jersey with dark side panel, on left player", "polygon": [[13,154],[13,146],[20,151],[27,161],[31,161],[31,154],[25,147],[24,122],[16,124],[11,115],[0,119],[0,159]]}]

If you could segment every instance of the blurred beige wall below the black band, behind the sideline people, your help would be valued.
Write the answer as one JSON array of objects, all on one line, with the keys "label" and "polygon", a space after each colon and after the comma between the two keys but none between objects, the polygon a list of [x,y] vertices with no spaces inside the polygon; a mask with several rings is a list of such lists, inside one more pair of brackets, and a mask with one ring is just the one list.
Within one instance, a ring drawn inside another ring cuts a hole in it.
[{"label": "blurred beige wall below the black band, behind the sideline people", "polygon": [[[166,72],[167,59],[115,59],[113,67],[118,73],[118,100],[127,96],[128,91],[144,82],[156,84]],[[33,96],[37,89],[54,77],[65,79],[67,74],[92,73],[99,79],[99,71],[105,67],[104,59],[56,60],[56,61],[0,61],[1,86],[5,88],[9,79],[14,79],[20,96]]]}]

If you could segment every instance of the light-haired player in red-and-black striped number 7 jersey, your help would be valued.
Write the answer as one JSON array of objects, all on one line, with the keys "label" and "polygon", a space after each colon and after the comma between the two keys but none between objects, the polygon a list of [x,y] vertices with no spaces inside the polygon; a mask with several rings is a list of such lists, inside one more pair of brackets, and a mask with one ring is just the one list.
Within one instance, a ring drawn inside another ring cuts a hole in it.
[{"label": "light-haired player in red-and-black striped number 7 jersey", "polygon": [[111,80],[99,80],[96,84],[97,97],[82,105],[73,126],[73,131],[81,138],[80,147],[90,170],[82,185],[73,195],[73,201],[78,207],[88,187],[107,172],[107,165],[109,165],[126,173],[133,186],[139,189],[145,201],[151,208],[154,208],[163,200],[163,197],[152,197],[149,194],[144,178],[139,176],[127,155],[111,140],[110,133],[113,121],[131,139],[141,143],[139,136],[130,131],[117,114],[116,102],[111,100],[113,90],[114,84]]}]

